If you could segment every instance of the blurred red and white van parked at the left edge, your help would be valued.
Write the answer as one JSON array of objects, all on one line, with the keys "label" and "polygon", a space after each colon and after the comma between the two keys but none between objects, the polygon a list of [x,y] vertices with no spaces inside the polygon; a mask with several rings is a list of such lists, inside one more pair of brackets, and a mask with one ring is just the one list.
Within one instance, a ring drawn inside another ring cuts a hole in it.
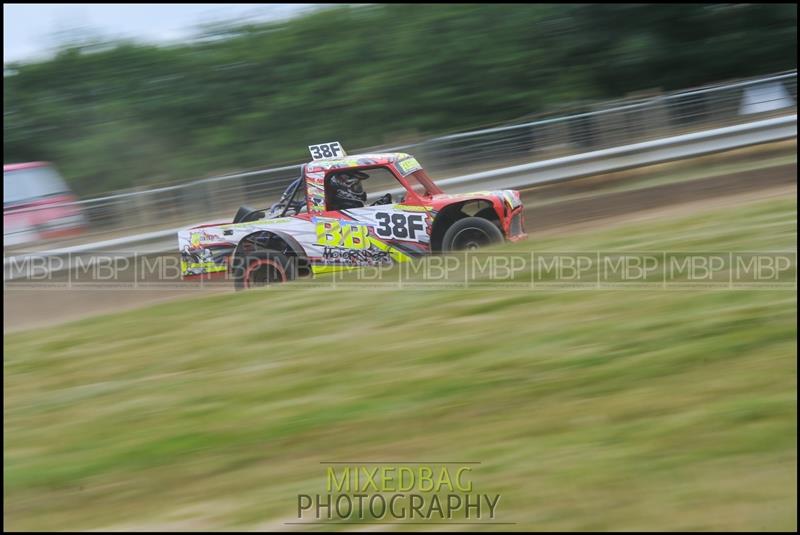
[{"label": "blurred red and white van parked at the left edge", "polygon": [[75,236],[86,228],[78,199],[48,162],[3,165],[3,246]]}]

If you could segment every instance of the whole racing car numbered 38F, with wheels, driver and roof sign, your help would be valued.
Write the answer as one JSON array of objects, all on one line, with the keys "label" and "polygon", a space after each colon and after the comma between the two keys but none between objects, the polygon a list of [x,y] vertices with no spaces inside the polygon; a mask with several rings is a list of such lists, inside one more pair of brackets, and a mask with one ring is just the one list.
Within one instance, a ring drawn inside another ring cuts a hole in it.
[{"label": "whole racing car numbered 38F, with wheels, driver and roof sign", "polygon": [[448,195],[406,153],[309,149],[277,203],[178,233],[184,279],[223,275],[245,289],[527,236],[518,191]]}]

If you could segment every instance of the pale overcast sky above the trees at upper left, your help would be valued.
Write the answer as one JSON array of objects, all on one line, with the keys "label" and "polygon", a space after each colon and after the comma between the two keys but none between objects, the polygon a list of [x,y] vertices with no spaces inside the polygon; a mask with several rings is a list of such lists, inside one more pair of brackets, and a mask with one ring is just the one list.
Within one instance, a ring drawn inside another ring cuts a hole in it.
[{"label": "pale overcast sky above the trees at upper left", "polygon": [[167,42],[203,23],[276,20],[314,4],[3,4],[3,63],[46,58],[57,35],[88,29],[104,37]]}]

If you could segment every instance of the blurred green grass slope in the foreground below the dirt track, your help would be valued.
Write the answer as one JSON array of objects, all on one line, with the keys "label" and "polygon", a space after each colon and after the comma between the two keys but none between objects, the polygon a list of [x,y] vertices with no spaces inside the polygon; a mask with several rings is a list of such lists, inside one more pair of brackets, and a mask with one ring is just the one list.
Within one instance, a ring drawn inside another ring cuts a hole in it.
[{"label": "blurred green grass slope in the foreground below the dirt track", "polygon": [[[786,196],[504,248],[796,240]],[[320,462],[391,459],[480,461],[509,529],[793,530],[796,297],[322,283],[11,334],[5,527],[288,528]]]}]

